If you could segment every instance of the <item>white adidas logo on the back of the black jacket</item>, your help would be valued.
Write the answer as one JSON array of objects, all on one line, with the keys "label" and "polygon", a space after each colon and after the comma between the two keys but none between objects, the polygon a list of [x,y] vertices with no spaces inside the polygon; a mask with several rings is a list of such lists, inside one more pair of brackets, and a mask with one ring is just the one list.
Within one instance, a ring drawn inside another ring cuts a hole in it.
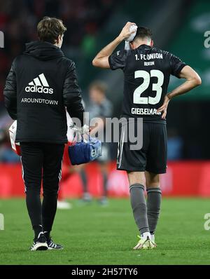
[{"label": "white adidas logo on the back of the black jacket", "polygon": [[52,94],[53,89],[50,88],[48,81],[45,78],[45,75],[39,74],[37,78],[29,82],[29,86],[25,88],[26,92],[38,92],[45,94]]}]

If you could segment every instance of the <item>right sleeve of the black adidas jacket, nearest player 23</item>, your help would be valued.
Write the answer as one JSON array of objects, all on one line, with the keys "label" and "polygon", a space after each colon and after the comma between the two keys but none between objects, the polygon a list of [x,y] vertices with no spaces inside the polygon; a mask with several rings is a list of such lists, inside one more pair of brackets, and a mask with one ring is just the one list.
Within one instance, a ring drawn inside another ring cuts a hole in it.
[{"label": "right sleeve of the black adidas jacket, nearest player 23", "polygon": [[66,107],[71,118],[78,118],[83,126],[83,103],[80,95],[80,88],[78,86],[76,67],[74,62],[69,64],[64,81],[63,97],[64,106]]}]

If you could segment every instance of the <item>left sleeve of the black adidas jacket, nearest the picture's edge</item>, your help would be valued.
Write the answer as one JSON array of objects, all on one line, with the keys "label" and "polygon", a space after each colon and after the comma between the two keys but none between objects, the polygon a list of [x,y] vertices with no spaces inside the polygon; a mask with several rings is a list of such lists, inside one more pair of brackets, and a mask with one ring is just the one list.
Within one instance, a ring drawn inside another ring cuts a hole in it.
[{"label": "left sleeve of the black adidas jacket, nearest the picture's edge", "polygon": [[14,62],[11,66],[10,72],[6,78],[6,85],[3,90],[5,107],[8,114],[14,120],[17,119],[17,81],[15,75]]}]

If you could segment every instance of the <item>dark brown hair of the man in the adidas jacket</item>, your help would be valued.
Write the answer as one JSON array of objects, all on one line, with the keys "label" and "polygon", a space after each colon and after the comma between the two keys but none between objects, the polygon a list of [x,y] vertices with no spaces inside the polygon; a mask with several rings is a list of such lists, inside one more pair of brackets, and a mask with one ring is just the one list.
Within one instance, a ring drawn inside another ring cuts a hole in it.
[{"label": "dark brown hair of the man in the adidas jacket", "polygon": [[55,43],[59,35],[62,36],[66,31],[62,20],[45,16],[37,25],[37,34],[40,41]]}]

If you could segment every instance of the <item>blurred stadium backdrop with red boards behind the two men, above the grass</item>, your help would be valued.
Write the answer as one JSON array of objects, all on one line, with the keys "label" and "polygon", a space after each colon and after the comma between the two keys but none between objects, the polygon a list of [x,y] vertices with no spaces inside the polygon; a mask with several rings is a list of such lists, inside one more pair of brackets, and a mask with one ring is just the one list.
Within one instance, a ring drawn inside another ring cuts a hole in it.
[{"label": "blurred stadium backdrop with red boards behind the two men, above the grass", "polygon": [[[204,47],[204,32],[210,30],[208,0],[1,0],[0,30],[5,41],[0,50],[0,198],[24,196],[20,160],[10,149],[7,129],[12,121],[3,105],[3,86],[13,58],[24,50],[25,43],[36,40],[36,24],[45,15],[64,20],[67,32],[62,50],[76,62],[85,103],[89,102],[89,84],[104,81],[113,116],[120,116],[123,73],[95,69],[91,62],[128,20],[150,27],[155,46],[197,70],[202,86],[169,104],[169,164],[167,174],[162,175],[162,189],[167,196],[210,196],[210,48]],[[169,89],[179,82],[172,78]],[[125,197],[127,178],[115,170],[116,152],[116,144],[111,144],[109,195]],[[87,165],[86,172],[90,193],[99,196],[103,182],[98,164]],[[69,172],[68,163],[63,177],[62,196],[80,197],[80,176]]]}]

